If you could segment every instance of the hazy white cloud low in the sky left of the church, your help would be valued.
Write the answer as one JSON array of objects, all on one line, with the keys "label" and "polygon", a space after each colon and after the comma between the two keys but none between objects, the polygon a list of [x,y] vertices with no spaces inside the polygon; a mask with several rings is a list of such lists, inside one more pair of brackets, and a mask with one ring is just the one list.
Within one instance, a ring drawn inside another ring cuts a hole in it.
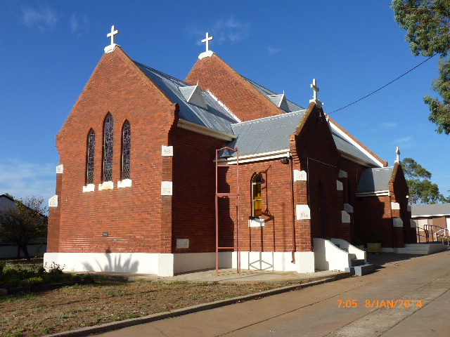
[{"label": "hazy white cloud low in the sky left of the church", "polygon": [[17,199],[37,196],[48,200],[55,194],[56,165],[26,163],[19,159],[0,160],[0,194]]}]

